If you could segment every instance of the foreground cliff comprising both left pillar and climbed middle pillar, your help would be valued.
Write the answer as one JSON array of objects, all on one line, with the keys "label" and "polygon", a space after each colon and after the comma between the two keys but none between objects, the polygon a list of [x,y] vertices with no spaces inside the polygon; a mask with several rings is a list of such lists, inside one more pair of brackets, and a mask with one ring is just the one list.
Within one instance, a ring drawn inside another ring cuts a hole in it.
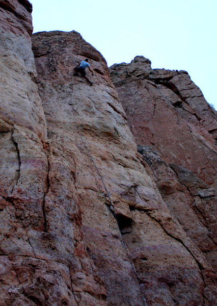
[{"label": "foreground cliff comprising both left pillar and climbed middle pillar", "polygon": [[[103,57],[74,31],[37,33],[36,78],[30,3],[0,12],[0,305],[214,305],[214,271],[138,153]],[[92,87],[73,77],[86,57]]]}]

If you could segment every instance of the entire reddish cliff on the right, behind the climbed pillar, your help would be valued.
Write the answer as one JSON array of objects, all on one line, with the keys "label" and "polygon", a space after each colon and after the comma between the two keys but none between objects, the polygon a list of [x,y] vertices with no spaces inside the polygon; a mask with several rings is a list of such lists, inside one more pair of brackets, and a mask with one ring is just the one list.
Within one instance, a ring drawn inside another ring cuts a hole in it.
[{"label": "entire reddish cliff on the right, behind the climbed pillar", "polygon": [[110,73],[162,198],[216,269],[216,112],[185,71],[138,56]]}]

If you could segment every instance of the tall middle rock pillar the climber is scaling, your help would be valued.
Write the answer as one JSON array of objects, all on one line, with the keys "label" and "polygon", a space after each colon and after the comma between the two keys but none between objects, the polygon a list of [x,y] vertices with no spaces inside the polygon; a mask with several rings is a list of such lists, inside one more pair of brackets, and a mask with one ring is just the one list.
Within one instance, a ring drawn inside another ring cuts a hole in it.
[{"label": "tall middle rock pillar the climber is scaling", "polygon": [[[86,245],[94,275],[105,284],[107,305],[144,305],[143,296],[148,305],[211,304],[212,268],[147,174],[105,60],[76,32],[34,34],[33,50],[48,128],[47,232],[59,239],[52,234],[63,223],[59,203],[73,189],[82,213],[79,243]],[[92,87],[72,77],[84,57],[95,71]],[[57,164],[60,157],[67,168]]]}]

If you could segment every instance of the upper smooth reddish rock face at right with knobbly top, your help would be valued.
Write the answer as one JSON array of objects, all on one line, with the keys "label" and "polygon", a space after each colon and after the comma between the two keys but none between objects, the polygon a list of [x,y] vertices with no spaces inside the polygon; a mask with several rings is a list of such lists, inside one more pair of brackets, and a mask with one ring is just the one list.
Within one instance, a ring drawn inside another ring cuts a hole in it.
[{"label": "upper smooth reddish rock face at right with knobbly top", "polygon": [[216,187],[216,112],[186,71],[151,69],[135,57],[110,68],[138,145],[152,145],[168,163]]}]

